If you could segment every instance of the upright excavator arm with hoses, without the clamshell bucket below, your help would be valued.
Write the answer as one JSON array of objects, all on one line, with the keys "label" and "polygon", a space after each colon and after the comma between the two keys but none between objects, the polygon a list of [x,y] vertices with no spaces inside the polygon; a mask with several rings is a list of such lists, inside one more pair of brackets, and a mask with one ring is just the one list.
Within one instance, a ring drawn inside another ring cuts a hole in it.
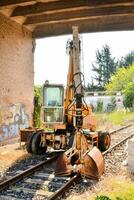
[{"label": "upright excavator arm with hoses, without the clamshell bucket below", "polygon": [[78,27],[73,27],[73,40],[68,41],[69,70],[65,99],[65,116],[67,125],[74,127],[83,126],[83,118],[89,114],[89,109],[84,101],[84,75],[81,72],[80,52],[81,41]]}]

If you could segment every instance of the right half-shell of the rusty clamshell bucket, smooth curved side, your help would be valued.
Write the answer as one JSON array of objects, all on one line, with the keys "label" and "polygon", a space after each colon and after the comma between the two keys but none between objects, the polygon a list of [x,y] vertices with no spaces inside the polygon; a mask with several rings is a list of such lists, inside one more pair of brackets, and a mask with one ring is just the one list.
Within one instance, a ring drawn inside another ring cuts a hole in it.
[{"label": "right half-shell of the rusty clamshell bucket, smooth curved side", "polygon": [[104,172],[104,158],[97,147],[93,147],[83,159],[80,173],[91,179],[99,179]]}]

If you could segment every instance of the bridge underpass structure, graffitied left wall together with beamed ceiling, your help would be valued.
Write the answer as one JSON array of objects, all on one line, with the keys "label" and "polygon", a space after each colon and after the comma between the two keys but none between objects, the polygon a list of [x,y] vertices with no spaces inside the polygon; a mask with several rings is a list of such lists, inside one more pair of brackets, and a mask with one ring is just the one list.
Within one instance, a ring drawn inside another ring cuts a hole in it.
[{"label": "bridge underpass structure, graffitied left wall together with beamed ceiling", "polygon": [[31,125],[34,39],[72,33],[134,30],[132,0],[0,1],[0,142]]}]

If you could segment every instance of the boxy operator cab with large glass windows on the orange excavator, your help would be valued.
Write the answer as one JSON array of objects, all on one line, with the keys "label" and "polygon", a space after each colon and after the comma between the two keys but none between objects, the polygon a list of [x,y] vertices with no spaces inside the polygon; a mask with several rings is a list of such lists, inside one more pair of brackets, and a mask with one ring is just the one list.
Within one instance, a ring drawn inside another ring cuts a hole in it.
[{"label": "boxy operator cab with large glass windows on the orange excavator", "polygon": [[63,123],[64,87],[45,83],[43,85],[43,123]]}]

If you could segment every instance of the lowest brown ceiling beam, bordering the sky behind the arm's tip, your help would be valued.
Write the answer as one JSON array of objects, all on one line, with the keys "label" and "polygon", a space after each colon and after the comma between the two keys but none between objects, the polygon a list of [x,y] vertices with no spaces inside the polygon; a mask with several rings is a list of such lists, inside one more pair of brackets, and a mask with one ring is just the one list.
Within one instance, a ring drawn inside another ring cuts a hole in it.
[{"label": "lowest brown ceiling beam, bordering the sky behind the arm's tip", "polygon": [[80,33],[134,30],[134,15],[106,16],[98,19],[74,19],[72,21],[37,26],[33,38],[71,34],[72,26],[79,26]]}]

